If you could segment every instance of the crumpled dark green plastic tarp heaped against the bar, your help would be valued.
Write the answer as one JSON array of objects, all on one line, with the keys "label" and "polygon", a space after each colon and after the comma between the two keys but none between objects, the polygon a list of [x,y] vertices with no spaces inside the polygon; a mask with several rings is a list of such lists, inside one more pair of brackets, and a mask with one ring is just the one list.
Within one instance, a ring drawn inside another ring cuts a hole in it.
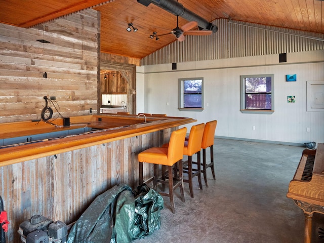
[{"label": "crumpled dark green plastic tarp heaped against the bar", "polygon": [[67,243],[128,243],[160,228],[164,200],[146,184],[119,184],[99,195],[71,228]]}]

